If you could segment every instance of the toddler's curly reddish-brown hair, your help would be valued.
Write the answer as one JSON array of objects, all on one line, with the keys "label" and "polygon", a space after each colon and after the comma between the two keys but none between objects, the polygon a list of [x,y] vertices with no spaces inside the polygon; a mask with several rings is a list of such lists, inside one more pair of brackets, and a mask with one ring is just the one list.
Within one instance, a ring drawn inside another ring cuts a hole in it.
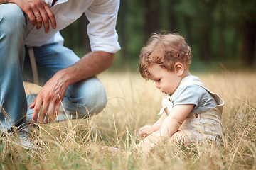
[{"label": "toddler's curly reddish-brown hair", "polygon": [[148,79],[150,73],[147,68],[154,63],[169,71],[174,71],[176,62],[189,67],[192,59],[191,47],[178,33],[166,35],[153,33],[146,46],[142,48],[139,57],[139,72],[144,79]]}]

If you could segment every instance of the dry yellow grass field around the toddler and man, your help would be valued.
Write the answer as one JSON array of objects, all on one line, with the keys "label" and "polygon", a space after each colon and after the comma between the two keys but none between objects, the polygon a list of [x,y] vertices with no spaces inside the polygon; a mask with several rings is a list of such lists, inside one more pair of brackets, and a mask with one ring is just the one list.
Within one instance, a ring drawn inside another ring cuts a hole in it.
[{"label": "dry yellow grass field around the toddler and man", "polygon": [[[139,74],[105,72],[100,79],[109,101],[102,113],[38,128],[33,135],[41,152],[26,151],[16,140],[1,137],[0,169],[256,169],[256,74],[198,76],[225,101],[221,146],[169,144],[149,155],[133,152],[140,140],[137,129],[159,118],[162,94]],[[102,153],[104,145],[124,152]]]}]

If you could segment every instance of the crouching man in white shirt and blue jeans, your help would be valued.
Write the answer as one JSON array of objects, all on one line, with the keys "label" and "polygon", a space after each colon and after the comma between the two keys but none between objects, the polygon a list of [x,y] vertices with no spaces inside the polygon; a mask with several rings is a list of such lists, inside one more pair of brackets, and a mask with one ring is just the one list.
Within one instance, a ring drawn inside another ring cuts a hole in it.
[{"label": "crouching man in white shirt and blue jeans", "polygon": [[[1,132],[22,127],[27,110],[33,122],[52,122],[61,102],[69,118],[102,111],[107,96],[95,75],[112,65],[120,49],[115,30],[118,8],[119,0],[0,0]],[[90,22],[92,52],[79,60],[62,46],[59,30],[82,13]],[[23,81],[43,86],[31,103],[33,95],[28,95],[29,105]]]}]

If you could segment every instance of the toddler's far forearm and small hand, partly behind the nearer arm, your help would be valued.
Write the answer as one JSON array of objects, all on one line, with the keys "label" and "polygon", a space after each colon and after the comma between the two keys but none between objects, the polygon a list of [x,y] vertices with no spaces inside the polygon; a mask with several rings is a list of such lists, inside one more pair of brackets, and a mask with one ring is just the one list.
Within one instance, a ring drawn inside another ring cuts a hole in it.
[{"label": "toddler's far forearm and small hand, partly behind the nearer arm", "polygon": [[161,127],[161,124],[164,122],[164,119],[167,117],[166,113],[161,115],[161,118],[154,123],[154,125],[145,125],[142,128],[139,128],[139,135],[142,137],[146,137],[150,135],[152,132],[156,132]]}]

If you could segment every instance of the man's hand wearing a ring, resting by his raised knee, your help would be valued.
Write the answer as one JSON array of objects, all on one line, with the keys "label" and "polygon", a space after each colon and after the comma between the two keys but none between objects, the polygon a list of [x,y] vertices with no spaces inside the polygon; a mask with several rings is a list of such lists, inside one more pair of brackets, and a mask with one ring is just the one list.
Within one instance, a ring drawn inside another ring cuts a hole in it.
[{"label": "man's hand wearing a ring, resting by his raised knee", "polygon": [[[21,10],[28,15],[29,20],[36,26],[36,29],[44,27],[45,33],[49,32],[50,23],[53,29],[56,28],[55,16],[47,4],[42,0],[14,0]],[[50,21],[50,22],[49,22]]]}]

